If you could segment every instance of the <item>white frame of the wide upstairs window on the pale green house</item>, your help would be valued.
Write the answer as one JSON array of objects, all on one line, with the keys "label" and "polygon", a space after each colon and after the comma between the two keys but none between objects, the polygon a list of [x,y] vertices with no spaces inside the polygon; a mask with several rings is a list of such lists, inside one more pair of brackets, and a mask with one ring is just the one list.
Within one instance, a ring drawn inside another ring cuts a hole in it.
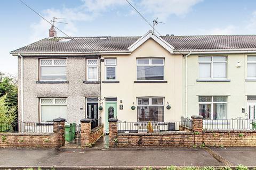
[{"label": "white frame of the wide upstairs window on the pale green house", "polygon": [[[211,61],[207,61],[207,62],[201,62],[199,61],[200,57],[211,57]],[[226,61],[213,61],[214,57],[226,57]],[[213,63],[225,63],[226,64],[226,78],[213,78]],[[199,72],[199,65],[200,64],[210,64],[211,69],[210,69],[210,78],[201,78],[199,77],[200,72]],[[198,56],[198,79],[199,80],[227,80],[228,79],[228,57],[227,56]]]}]

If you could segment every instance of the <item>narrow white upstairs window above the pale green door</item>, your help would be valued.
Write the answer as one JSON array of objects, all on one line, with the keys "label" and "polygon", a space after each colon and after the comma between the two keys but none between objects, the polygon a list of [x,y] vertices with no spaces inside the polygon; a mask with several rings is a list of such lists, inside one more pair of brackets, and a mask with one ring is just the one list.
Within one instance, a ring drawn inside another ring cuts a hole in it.
[{"label": "narrow white upstairs window above the pale green door", "polygon": [[106,77],[105,77],[106,81],[116,80],[116,59],[106,58],[105,66],[106,66]]}]

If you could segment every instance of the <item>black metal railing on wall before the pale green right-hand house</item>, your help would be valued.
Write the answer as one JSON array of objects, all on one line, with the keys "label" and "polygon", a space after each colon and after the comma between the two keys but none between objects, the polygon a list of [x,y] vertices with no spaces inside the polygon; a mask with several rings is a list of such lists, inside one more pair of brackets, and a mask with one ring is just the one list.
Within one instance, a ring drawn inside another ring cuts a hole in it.
[{"label": "black metal railing on wall before the pale green right-hand house", "polygon": [[238,117],[230,120],[203,120],[204,130],[256,130],[256,120]]}]

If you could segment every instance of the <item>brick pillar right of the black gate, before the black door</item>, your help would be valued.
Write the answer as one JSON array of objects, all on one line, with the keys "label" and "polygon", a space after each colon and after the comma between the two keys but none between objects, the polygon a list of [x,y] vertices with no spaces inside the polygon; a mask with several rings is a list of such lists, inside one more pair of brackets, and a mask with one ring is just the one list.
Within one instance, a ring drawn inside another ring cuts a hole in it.
[{"label": "brick pillar right of the black gate, before the black door", "polygon": [[90,133],[91,133],[91,122],[89,118],[84,118],[81,121],[81,147],[90,147]]}]

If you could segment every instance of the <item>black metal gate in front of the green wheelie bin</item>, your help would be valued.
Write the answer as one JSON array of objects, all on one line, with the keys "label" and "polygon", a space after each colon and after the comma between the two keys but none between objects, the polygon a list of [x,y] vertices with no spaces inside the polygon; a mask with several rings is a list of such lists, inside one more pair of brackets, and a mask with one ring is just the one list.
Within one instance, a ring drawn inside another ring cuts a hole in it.
[{"label": "black metal gate in front of the green wheelie bin", "polygon": [[81,124],[70,124],[69,129],[69,143],[81,145]]}]

